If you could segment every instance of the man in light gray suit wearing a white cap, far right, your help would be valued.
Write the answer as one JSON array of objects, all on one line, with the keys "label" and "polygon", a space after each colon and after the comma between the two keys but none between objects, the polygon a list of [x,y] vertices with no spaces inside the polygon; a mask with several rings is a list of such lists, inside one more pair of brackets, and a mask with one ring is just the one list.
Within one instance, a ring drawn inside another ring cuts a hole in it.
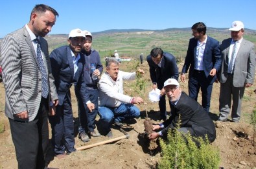
[{"label": "man in light gray suit wearing a white cap, far right", "polygon": [[220,45],[222,66],[218,121],[227,121],[232,100],[231,118],[233,122],[239,122],[244,89],[253,85],[255,50],[253,43],[242,37],[244,24],[241,21],[234,21],[229,30],[231,38],[225,39]]}]

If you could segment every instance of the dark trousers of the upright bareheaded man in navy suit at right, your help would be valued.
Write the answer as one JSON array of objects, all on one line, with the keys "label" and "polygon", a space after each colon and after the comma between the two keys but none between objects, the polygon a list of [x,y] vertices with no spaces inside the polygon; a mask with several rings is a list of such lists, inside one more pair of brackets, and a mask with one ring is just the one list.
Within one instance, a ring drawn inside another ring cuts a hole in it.
[{"label": "dark trousers of the upright bareheaded man in navy suit at right", "polygon": [[213,84],[207,81],[204,71],[194,71],[193,75],[189,78],[189,97],[197,101],[200,88],[202,92],[202,106],[209,113]]}]

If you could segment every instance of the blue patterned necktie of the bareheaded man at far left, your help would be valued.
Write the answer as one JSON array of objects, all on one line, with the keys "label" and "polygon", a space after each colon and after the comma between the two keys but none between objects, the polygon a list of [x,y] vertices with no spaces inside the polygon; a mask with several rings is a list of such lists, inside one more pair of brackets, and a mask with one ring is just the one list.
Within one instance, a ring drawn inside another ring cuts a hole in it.
[{"label": "blue patterned necktie of the bareheaded man at far left", "polygon": [[36,47],[36,59],[38,59],[38,65],[41,72],[41,96],[47,98],[49,92],[48,80],[45,65],[43,64],[43,57],[41,55],[40,41],[36,38],[34,40],[37,44]]}]

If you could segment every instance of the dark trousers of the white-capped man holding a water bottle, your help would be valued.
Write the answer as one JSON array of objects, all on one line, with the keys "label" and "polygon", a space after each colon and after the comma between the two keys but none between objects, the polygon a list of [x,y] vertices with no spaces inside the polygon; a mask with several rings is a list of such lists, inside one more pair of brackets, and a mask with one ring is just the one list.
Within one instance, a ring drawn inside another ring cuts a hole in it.
[{"label": "dark trousers of the white-capped man holding a water bottle", "polygon": [[95,109],[89,112],[86,103],[83,103],[82,98],[78,97],[78,117],[79,117],[79,133],[81,132],[93,132],[95,129],[95,118],[98,113],[98,96],[99,91],[96,88],[88,88],[87,93],[91,103],[95,105]]}]

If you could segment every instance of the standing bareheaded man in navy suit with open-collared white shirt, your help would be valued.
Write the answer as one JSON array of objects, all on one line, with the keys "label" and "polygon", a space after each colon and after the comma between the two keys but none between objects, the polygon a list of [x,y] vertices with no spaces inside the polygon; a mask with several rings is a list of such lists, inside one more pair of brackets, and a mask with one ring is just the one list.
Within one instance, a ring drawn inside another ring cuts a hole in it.
[{"label": "standing bareheaded man in navy suit with open-collared white shirt", "polygon": [[189,70],[189,96],[197,101],[201,88],[202,106],[209,113],[211,91],[221,65],[220,45],[206,34],[204,23],[195,23],[191,30],[194,37],[189,40],[180,79],[185,83],[185,73]]}]

